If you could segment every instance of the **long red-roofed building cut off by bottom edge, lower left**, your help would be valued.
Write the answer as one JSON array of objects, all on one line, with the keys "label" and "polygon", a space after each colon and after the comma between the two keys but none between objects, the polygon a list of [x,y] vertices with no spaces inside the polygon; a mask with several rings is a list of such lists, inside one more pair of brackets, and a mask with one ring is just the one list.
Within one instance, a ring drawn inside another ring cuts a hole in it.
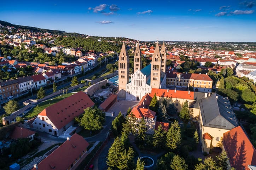
[{"label": "long red-roofed building cut off by bottom edge, lower left", "polygon": [[32,170],[75,170],[88,155],[89,143],[80,135],[74,134],[43,159]]}]

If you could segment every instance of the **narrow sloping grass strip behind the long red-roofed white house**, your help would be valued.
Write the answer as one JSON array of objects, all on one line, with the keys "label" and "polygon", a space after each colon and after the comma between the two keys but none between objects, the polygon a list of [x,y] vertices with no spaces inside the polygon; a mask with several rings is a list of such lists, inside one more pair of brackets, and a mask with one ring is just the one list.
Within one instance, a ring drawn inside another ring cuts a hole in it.
[{"label": "narrow sloping grass strip behind the long red-roofed white house", "polygon": [[38,108],[36,108],[36,107],[32,108],[27,114],[25,114],[23,116],[23,118],[31,119],[33,117],[36,117],[43,109],[63,100],[64,98],[71,96],[72,94],[74,94],[74,93],[67,93],[67,94],[64,93],[64,95],[62,95],[62,96],[57,96],[57,97],[53,98],[52,100],[44,101],[44,102],[38,104]]}]

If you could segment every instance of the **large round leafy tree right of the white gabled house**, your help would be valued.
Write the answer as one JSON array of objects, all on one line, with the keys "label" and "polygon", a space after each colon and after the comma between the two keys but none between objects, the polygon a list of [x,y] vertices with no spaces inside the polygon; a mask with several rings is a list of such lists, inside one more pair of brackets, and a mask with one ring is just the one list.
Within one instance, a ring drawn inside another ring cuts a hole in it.
[{"label": "large round leafy tree right of the white gabled house", "polygon": [[86,108],[79,120],[80,126],[87,130],[100,130],[105,122],[105,113],[98,108]]}]

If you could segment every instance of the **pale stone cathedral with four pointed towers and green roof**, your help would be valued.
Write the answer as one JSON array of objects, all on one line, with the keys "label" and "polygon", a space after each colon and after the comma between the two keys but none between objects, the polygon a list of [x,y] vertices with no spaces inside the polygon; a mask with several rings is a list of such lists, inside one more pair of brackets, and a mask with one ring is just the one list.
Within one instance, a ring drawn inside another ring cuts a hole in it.
[{"label": "pale stone cathedral with four pointed towers and green roof", "polygon": [[164,43],[160,51],[157,41],[152,62],[144,68],[142,68],[141,57],[138,42],[134,52],[134,73],[129,78],[129,56],[123,42],[118,59],[118,97],[120,99],[140,101],[146,93],[151,93],[151,88],[165,88],[166,51]]}]

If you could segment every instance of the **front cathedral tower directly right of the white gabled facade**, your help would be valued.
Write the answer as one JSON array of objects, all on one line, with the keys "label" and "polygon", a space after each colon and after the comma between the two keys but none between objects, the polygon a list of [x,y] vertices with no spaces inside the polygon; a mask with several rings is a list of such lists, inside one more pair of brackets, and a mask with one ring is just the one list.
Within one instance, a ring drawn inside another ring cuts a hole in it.
[{"label": "front cathedral tower directly right of the white gabled facade", "polygon": [[161,84],[161,54],[159,50],[158,41],[156,43],[156,49],[152,55],[151,62],[151,75],[150,75],[150,86],[151,88],[159,89]]}]

